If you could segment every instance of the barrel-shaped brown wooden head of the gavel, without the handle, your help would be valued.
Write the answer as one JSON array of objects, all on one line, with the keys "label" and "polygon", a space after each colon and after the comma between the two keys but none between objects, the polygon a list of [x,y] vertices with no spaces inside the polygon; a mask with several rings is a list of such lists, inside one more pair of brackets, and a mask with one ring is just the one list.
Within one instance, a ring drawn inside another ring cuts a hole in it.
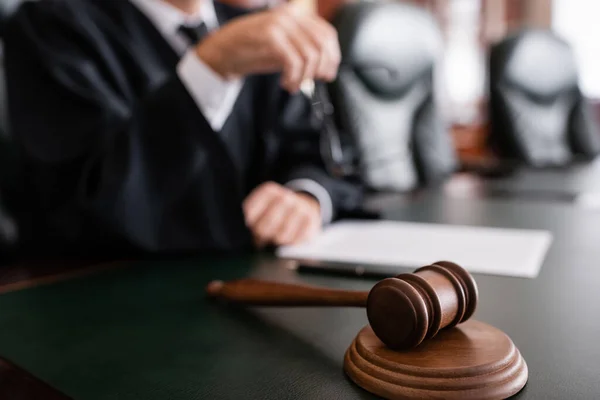
[{"label": "barrel-shaped brown wooden head of the gavel, without the handle", "polygon": [[367,317],[386,346],[407,349],[471,318],[477,297],[465,269],[440,261],[377,283],[369,292]]}]

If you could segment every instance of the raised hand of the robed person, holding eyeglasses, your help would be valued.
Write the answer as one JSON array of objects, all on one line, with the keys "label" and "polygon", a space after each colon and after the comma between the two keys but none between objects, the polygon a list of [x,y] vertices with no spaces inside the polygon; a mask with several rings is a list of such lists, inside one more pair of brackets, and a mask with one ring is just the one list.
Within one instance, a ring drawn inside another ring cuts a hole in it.
[{"label": "raised hand of the robed person, holding eyeglasses", "polygon": [[196,52],[226,79],[282,72],[281,85],[290,92],[306,79],[333,80],[341,57],[335,29],[294,4],[235,19]]}]

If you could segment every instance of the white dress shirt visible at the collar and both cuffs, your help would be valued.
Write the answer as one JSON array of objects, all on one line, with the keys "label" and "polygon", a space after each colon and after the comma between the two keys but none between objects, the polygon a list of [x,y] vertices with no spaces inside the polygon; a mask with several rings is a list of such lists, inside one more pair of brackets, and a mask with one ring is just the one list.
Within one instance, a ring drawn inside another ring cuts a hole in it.
[{"label": "white dress shirt visible at the collar and both cuffs", "polygon": [[[197,26],[204,22],[208,31],[219,28],[212,0],[202,0],[196,14],[186,14],[163,0],[130,0],[163,35],[182,58],[177,74],[215,132],[219,132],[231,114],[244,84],[243,79],[226,80],[204,63],[188,39],[179,32],[181,25]],[[333,218],[333,204],[323,186],[310,179],[297,179],[286,184],[292,190],[310,193],[321,206],[323,223]]]}]

